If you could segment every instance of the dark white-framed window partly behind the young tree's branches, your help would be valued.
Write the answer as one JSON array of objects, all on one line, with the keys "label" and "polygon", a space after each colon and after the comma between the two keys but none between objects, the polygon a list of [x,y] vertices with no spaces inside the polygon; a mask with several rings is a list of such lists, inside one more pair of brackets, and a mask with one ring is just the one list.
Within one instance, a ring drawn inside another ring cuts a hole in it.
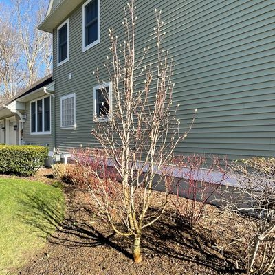
[{"label": "dark white-framed window partly behind the young tree's branches", "polygon": [[112,85],[106,83],[94,87],[94,120],[106,122],[111,120]]}]

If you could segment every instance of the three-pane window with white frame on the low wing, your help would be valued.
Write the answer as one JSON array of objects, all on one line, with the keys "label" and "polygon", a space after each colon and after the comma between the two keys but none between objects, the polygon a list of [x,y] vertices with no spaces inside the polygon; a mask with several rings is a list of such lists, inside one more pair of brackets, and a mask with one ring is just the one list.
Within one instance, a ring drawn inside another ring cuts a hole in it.
[{"label": "three-pane window with white frame on the low wing", "polygon": [[32,134],[50,134],[51,98],[47,96],[30,103],[30,126]]}]

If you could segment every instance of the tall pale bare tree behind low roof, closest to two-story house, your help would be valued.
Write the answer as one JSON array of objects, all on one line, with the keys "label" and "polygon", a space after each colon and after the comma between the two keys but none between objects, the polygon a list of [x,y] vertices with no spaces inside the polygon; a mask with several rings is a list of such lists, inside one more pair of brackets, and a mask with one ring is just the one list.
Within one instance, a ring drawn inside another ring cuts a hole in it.
[{"label": "tall pale bare tree behind low roof, closest to two-story house", "polygon": [[29,86],[51,71],[51,36],[36,28],[45,17],[45,1],[14,0],[13,3],[19,34],[17,43],[23,52],[25,83]]}]

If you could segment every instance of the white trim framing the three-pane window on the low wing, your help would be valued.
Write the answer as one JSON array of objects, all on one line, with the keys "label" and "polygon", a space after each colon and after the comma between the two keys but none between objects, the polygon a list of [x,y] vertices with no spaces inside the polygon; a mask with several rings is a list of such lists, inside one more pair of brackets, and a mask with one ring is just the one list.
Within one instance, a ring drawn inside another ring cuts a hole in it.
[{"label": "white trim framing the three-pane window on the low wing", "polygon": [[[45,132],[45,110],[44,110],[44,98],[50,98],[50,131]],[[38,132],[38,120],[37,120],[37,101],[42,100],[42,132]],[[35,102],[35,132],[32,132],[32,103]],[[52,96],[43,96],[30,102],[30,134],[31,135],[51,135],[52,134]]]}]

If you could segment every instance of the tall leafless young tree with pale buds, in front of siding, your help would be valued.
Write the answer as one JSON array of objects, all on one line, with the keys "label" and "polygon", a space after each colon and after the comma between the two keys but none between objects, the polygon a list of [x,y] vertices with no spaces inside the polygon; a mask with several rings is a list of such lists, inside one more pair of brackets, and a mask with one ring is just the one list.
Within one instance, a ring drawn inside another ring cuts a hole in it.
[{"label": "tall leafless young tree with pale buds, in front of siding", "polygon": [[[134,0],[124,8],[122,43],[118,42],[114,30],[109,30],[111,57],[108,56],[104,64],[109,79],[101,81],[101,71],[96,70],[104,103],[98,107],[99,114],[94,118],[96,126],[91,132],[102,151],[96,157],[85,157],[82,165],[96,179],[94,187],[89,184],[89,192],[98,212],[104,213],[114,232],[132,238],[133,259],[140,263],[142,234],[166,209],[168,186],[175,167],[170,164],[175,148],[187,137],[194,118],[190,127],[181,133],[177,119],[179,105],[172,100],[174,64],[162,48],[165,33],[161,12],[155,10],[156,44],[152,51],[146,47],[140,52],[135,41],[135,10]],[[148,52],[151,57],[147,62]],[[111,87],[107,88],[107,82],[112,83]],[[87,151],[89,149],[84,155]],[[81,154],[76,154],[76,160],[81,160],[77,155]],[[107,188],[110,181],[104,173],[106,166],[111,167],[115,178],[121,181],[120,184],[113,182],[111,191]],[[157,207],[153,199],[155,188],[165,190]]]}]

